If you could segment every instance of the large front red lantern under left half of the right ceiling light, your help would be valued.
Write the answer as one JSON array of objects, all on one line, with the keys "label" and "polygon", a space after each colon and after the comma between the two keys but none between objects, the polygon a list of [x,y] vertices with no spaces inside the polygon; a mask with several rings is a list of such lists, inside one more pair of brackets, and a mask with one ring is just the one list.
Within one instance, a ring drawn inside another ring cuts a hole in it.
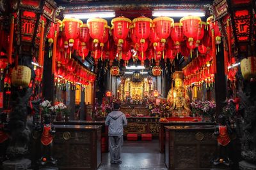
[{"label": "large front red lantern under left half of the right ceiling light", "polygon": [[166,38],[170,36],[171,25],[174,23],[173,18],[169,17],[157,17],[153,20],[154,25],[156,25],[156,33],[162,44],[166,43]]}]

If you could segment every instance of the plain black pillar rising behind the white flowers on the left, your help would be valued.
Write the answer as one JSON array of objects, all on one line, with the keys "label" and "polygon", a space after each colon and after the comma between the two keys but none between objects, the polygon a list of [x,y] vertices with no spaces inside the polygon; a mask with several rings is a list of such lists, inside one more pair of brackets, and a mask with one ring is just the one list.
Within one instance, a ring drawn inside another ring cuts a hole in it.
[{"label": "plain black pillar rising behind the white flowers on the left", "polygon": [[47,53],[49,48],[44,50],[44,73],[43,73],[43,87],[42,97],[45,100],[52,101],[54,103],[54,75],[52,74],[52,58],[49,58]]}]

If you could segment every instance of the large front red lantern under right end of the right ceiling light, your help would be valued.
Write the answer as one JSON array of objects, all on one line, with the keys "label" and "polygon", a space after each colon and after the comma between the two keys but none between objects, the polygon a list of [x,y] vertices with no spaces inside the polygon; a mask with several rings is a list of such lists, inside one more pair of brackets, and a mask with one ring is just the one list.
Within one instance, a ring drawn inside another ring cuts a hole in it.
[{"label": "large front red lantern under right end of the right ceiling light", "polygon": [[189,46],[193,45],[193,41],[196,41],[198,32],[198,25],[201,22],[200,17],[187,16],[180,19],[180,23],[183,26],[184,35],[188,38]]}]

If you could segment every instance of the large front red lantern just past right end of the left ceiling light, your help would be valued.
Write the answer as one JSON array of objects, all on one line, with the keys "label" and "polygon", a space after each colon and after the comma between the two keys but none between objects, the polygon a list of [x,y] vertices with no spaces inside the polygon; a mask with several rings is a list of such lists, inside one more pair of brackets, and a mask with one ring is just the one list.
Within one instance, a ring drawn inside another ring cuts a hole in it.
[{"label": "large front red lantern just past right end of the left ceiling light", "polygon": [[114,39],[118,39],[118,46],[120,46],[121,48],[124,40],[129,34],[129,28],[131,23],[131,20],[125,17],[117,17],[111,20],[111,24],[113,25],[114,29]]}]

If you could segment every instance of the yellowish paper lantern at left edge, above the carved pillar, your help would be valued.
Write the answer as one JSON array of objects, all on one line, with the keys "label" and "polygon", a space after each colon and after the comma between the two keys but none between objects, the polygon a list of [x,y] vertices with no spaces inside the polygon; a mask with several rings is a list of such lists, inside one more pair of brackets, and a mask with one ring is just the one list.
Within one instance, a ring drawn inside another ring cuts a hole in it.
[{"label": "yellowish paper lantern at left edge, above the carved pillar", "polygon": [[12,70],[12,85],[15,87],[28,87],[31,79],[31,69],[27,66],[17,66]]}]

